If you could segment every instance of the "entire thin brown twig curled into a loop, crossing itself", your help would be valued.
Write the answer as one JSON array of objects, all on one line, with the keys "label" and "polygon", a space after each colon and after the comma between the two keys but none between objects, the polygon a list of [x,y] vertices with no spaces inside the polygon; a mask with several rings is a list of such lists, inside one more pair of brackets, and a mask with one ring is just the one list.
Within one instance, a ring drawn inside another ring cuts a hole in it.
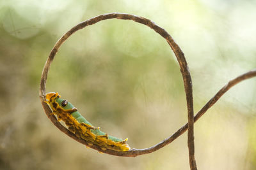
[{"label": "entire thin brown twig curled into a loop, crossing itself", "polygon": [[[47,74],[49,71],[49,67],[51,65],[52,60],[54,59],[54,56],[58,52],[58,49],[64,43],[64,41],[71,36],[74,32],[78,31],[79,29],[83,29],[84,27],[88,25],[95,24],[99,22],[100,20],[107,20],[111,18],[118,18],[118,19],[123,19],[123,20],[134,20],[135,22],[139,22],[141,24],[147,25],[148,27],[154,29],[157,33],[159,33],[163,38],[166,39],[168,44],[171,46],[173,52],[175,53],[177,60],[180,65],[180,71],[182,73],[183,79],[184,79],[184,87],[185,87],[185,92],[186,92],[186,99],[187,99],[187,104],[188,104],[188,117],[189,121],[188,124],[184,125],[181,127],[177,132],[175,132],[172,136],[169,138],[164,139],[157,145],[154,145],[150,148],[145,148],[145,149],[132,149],[127,152],[115,152],[113,150],[101,150],[99,146],[93,145],[90,146],[84,139],[77,138],[72,132],[68,131],[63,125],[61,125],[57,120],[56,117],[54,117],[51,114],[51,109],[49,106],[44,102],[45,101],[45,84],[47,80]],[[164,31],[161,27],[157,26],[154,24],[154,22],[151,22],[147,18],[142,18],[142,17],[137,17],[134,15],[128,15],[124,13],[109,13],[106,15],[99,15],[95,18],[92,18],[90,20],[86,20],[85,22],[81,22],[80,24],[76,25],[70,31],[66,32],[56,43],[54,48],[52,48],[51,53],[47,59],[47,62],[45,63],[43,72],[42,72],[42,77],[41,77],[41,83],[40,83],[40,100],[42,103],[42,106],[45,110],[45,113],[47,117],[51,120],[51,122],[60,129],[60,131],[64,132],[70,138],[75,139],[76,141],[89,146],[90,148],[93,148],[95,150],[98,150],[99,152],[104,152],[108,153],[110,155],[116,155],[116,156],[122,156],[122,157],[136,157],[138,155],[143,155],[147,153],[152,153],[155,152],[156,150],[159,150],[160,148],[163,148],[163,146],[168,145],[169,143],[172,143],[173,140],[177,139],[181,134],[186,132],[187,129],[190,129],[188,136],[188,146],[189,146],[189,163],[191,166],[191,169],[196,169],[196,164],[195,164],[195,148],[194,148],[194,143],[193,143],[193,123],[194,120],[198,120],[202,115],[204,115],[205,111],[207,111],[211,106],[220,99],[220,97],[227,92],[228,89],[230,89],[232,86],[236,85],[236,83],[239,83],[240,81],[246,80],[248,78],[252,78],[253,76],[256,76],[256,71],[250,71],[246,74],[243,74],[234,80],[230,81],[223,89],[221,89],[216,96],[212,97],[212,99],[205,104],[205,106],[196,114],[195,118],[193,117],[193,96],[192,96],[192,83],[191,83],[191,76],[189,74],[188,66],[186,63],[186,59],[184,57],[184,53],[180,50],[179,46],[175,43],[175,41],[172,39],[172,37],[168,34],[168,32]],[[191,120],[192,118],[192,120]],[[192,129],[192,130],[191,130]]]}]

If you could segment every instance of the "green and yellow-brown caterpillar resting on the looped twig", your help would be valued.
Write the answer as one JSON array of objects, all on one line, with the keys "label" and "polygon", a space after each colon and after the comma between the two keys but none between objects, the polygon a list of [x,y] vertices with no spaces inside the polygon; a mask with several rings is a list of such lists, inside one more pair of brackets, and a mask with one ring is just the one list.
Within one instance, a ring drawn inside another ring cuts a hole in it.
[{"label": "green and yellow-brown caterpillar resting on the looped twig", "polygon": [[77,138],[84,139],[88,145],[97,145],[102,150],[124,152],[131,149],[126,143],[128,138],[122,140],[100,131],[99,127],[88,122],[70,102],[60,97],[58,92],[49,92],[45,96],[45,103],[51,107],[52,115],[56,115],[58,121],[65,122],[68,130]]}]

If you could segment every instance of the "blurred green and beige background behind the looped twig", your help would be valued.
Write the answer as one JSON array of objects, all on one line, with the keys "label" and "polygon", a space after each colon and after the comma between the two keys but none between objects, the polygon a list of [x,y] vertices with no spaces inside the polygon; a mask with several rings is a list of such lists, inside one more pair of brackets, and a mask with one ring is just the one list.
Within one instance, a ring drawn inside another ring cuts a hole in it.
[{"label": "blurred green and beige background behind the looped twig", "polygon": [[[186,133],[136,158],[87,149],[60,132],[38,97],[54,43],[103,13],[146,17],[186,55],[195,113],[256,66],[256,1],[0,1],[0,169],[189,169]],[[195,124],[198,169],[256,169],[256,80],[227,92]],[[187,122],[177,60],[152,29],[105,20],[72,35],[56,55],[47,92],[59,92],[102,131],[147,148]]]}]

